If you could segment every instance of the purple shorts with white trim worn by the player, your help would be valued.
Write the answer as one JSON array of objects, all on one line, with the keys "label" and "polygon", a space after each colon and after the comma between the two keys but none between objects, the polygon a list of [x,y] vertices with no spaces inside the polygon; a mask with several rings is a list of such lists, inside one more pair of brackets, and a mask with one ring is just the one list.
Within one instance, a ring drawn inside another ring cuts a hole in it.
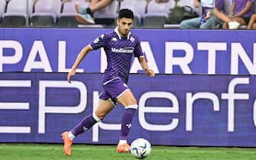
[{"label": "purple shorts with white trim worn by the player", "polygon": [[128,85],[123,82],[122,78],[113,78],[108,82],[103,83],[104,91],[99,94],[99,99],[106,100],[111,99],[114,104],[116,100],[128,90]]}]

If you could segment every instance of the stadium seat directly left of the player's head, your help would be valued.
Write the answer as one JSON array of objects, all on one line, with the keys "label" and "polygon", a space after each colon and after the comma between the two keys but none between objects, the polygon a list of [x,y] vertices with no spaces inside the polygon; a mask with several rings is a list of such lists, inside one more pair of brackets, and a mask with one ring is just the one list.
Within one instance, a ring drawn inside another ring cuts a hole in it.
[{"label": "stadium seat directly left of the player's head", "polygon": [[115,18],[118,11],[118,1],[113,2],[99,11],[93,14],[94,21],[96,24],[115,25]]}]

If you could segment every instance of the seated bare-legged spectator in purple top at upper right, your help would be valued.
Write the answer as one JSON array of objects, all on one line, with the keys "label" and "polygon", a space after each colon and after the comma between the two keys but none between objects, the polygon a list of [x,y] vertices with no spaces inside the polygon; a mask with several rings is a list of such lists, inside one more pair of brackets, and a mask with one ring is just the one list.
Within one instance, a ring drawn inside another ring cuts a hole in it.
[{"label": "seated bare-legged spectator in purple top at upper right", "polygon": [[[215,1],[221,2],[223,0]],[[218,8],[214,9],[214,14],[223,22],[223,29],[238,29],[240,25],[246,25],[250,21],[251,14],[254,12],[253,2],[254,0],[232,0],[232,8],[228,15]]]}]

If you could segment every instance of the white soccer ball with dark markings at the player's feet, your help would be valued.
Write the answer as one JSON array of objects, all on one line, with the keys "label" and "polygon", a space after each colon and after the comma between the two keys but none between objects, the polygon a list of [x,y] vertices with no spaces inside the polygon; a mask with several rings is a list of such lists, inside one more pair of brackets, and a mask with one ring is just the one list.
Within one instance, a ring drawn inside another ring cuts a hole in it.
[{"label": "white soccer ball with dark markings at the player's feet", "polygon": [[138,138],[131,142],[131,155],[143,159],[151,154],[151,143],[146,139]]}]

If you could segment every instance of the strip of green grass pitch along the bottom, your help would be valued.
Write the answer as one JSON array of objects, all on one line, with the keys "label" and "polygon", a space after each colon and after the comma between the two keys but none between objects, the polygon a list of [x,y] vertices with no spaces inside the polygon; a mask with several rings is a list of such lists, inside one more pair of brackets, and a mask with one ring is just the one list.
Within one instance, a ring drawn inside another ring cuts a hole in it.
[{"label": "strip of green grass pitch along the bottom", "polygon": [[[74,144],[67,157],[60,144],[0,143],[1,160],[135,160],[129,153],[115,152],[115,146]],[[152,146],[146,160],[255,160],[255,148]]]}]

